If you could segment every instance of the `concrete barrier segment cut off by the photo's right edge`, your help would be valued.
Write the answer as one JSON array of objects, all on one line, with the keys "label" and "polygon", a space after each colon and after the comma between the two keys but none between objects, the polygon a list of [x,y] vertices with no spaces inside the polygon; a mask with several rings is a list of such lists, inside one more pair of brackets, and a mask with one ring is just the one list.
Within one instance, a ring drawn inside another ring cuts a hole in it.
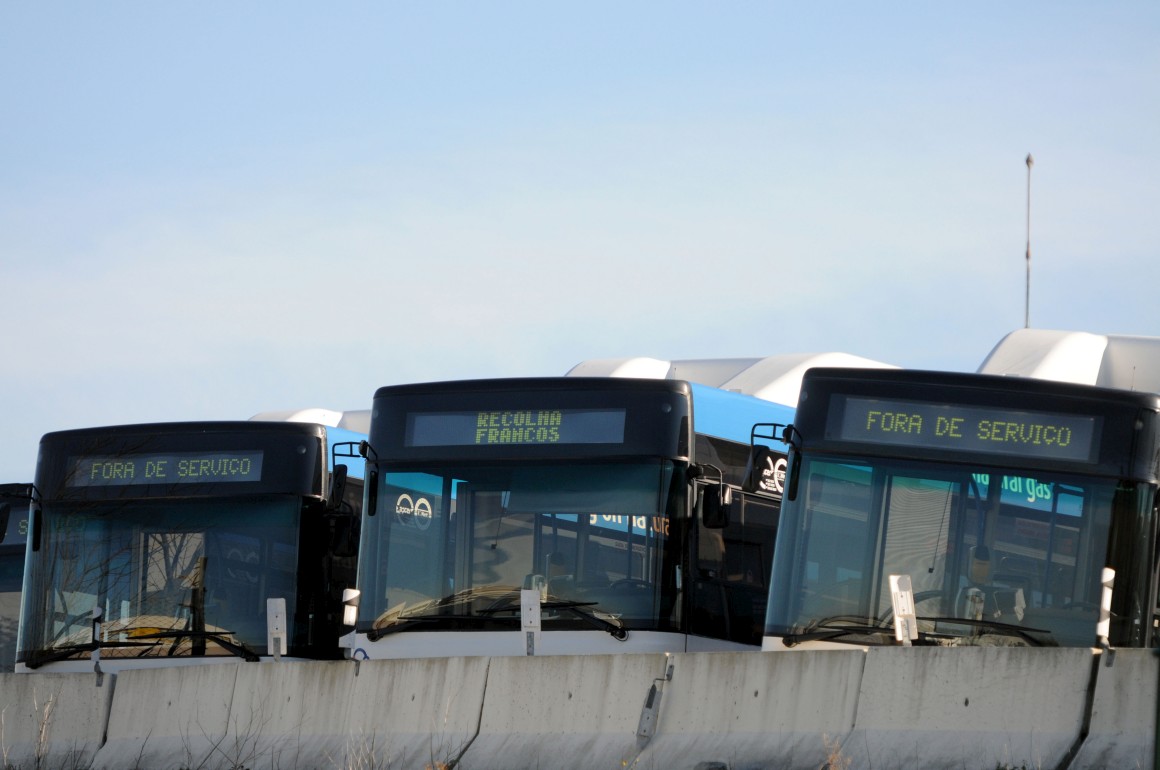
[{"label": "concrete barrier segment cut off by the photo's right edge", "polygon": [[1160,659],[1152,649],[1119,649],[1105,663],[1099,664],[1092,725],[1072,767],[1154,767]]}]

